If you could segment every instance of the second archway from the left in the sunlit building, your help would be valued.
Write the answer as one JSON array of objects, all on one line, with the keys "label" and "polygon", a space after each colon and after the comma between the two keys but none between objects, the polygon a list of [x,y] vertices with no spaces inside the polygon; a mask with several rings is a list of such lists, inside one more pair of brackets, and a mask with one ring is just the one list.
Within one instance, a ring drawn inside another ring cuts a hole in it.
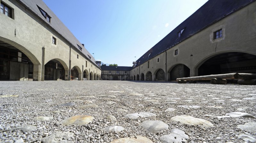
[{"label": "second archway from the left in the sunlit building", "polygon": [[42,80],[69,80],[69,68],[61,59],[52,59],[48,61],[44,66],[44,79]]}]

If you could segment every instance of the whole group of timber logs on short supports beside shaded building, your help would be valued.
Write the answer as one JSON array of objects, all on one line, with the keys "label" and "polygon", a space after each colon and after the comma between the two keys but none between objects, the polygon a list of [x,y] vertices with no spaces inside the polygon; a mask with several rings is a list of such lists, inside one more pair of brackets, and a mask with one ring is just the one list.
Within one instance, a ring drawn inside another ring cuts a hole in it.
[{"label": "whole group of timber logs on short supports beside shaded building", "polygon": [[178,83],[196,83],[200,80],[210,80],[211,84],[226,84],[227,79],[236,79],[238,84],[256,85],[256,74],[230,73],[220,75],[203,75],[194,77],[177,78]]}]

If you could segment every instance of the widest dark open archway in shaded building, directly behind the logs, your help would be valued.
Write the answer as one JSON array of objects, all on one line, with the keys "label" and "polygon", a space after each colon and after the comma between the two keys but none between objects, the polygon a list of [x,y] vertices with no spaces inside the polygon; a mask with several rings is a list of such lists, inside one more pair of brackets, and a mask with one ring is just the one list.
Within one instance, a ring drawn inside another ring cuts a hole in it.
[{"label": "widest dark open archway in shaded building, directly behind the logs", "polygon": [[256,55],[226,52],[209,56],[196,68],[198,76],[227,73],[256,73]]}]

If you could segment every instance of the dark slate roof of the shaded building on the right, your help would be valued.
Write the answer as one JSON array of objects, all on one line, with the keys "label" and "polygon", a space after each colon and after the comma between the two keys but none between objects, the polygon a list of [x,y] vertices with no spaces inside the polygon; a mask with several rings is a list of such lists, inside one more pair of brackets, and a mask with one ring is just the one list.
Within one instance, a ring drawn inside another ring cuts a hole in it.
[{"label": "dark slate roof of the shaded building on the right", "polygon": [[[137,60],[136,67],[252,2],[255,0],[209,0],[142,55]],[[185,30],[178,38],[178,32],[184,28]]]}]

